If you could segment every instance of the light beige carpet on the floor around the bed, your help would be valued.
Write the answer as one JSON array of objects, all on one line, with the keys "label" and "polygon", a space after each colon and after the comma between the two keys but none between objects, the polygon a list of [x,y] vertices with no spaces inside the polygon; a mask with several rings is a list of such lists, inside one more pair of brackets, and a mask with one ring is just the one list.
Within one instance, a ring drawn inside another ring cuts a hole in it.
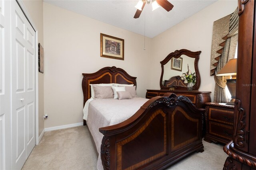
[{"label": "light beige carpet on the floor around the bed", "polygon": [[[221,144],[203,140],[204,152],[194,152],[166,170],[222,170],[227,154]],[[97,155],[87,126],[44,133],[22,170],[96,170]]]}]

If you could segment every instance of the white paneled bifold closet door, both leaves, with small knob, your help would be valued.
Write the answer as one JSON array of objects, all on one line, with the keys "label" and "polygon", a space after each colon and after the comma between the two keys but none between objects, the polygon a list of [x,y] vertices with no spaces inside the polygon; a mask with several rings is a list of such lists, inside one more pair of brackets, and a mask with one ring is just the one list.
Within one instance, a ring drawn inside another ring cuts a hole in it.
[{"label": "white paneled bifold closet door, both leaves, with small knob", "polygon": [[36,44],[32,26],[16,1],[11,3],[12,169],[21,169],[36,144]]}]

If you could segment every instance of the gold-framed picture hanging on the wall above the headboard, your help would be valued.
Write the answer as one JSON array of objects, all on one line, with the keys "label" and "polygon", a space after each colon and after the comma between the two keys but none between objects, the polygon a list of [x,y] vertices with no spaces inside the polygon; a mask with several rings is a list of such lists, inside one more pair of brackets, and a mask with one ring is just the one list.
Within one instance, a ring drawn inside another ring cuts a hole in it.
[{"label": "gold-framed picture hanging on the wall above the headboard", "polygon": [[124,39],[100,33],[100,57],[124,60]]}]

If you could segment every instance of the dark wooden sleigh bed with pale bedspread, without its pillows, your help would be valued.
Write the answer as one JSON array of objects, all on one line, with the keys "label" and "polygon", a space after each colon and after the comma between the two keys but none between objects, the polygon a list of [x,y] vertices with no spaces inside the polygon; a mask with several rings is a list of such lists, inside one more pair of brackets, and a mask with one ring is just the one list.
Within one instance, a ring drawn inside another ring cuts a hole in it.
[{"label": "dark wooden sleigh bed with pale bedspread, without its pillows", "polygon": [[[90,74],[83,73],[83,76],[84,105],[91,97],[90,84],[118,83],[136,86],[136,77],[115,66],[104,67]],[[90,122],[92,119],[100,122],[102,117],[113,117],[108,113],[106,113],[108,116],[104,113],[103,116],[98,116],[90,112],[90,109],[99,110],[98,107],[105,103],[112,103],[111,100],[119,102],[116,99],[93,100],[88,109],[87,125],[90,133],[93,139],[96,136],[102,137],[101,142],[99,139],[94,139],[100,158],[98,169],[164,169],[192,152],[204,151],[202,122],[205,109],[197,109],[188,98],[166,93],[163,97],[157,96],[150,100],[138,99],[139,104],[135,104],[137,98],[133,98],[127,101],[135,103],[130,103],[128,106],[137,105],[138,110],[132,114],[128,113],[130,115],[120,123],[114,121],[111,123],[118,123],[98,127],[99,125],[96,125],[98,123]],[[102,109],[103,112],[110,110],[109,106],[106,108]]]}]

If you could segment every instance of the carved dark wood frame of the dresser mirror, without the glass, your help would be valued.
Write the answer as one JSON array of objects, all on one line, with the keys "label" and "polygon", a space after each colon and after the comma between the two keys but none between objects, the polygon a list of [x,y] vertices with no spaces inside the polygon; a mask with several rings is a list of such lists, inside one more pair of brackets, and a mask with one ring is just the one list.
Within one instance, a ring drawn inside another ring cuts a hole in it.
[{"label": "carved dark wood frame of the dresser mirror, without the glass", "polygon": [[[200,56],[201,51],[189,51],[187,49],[181,49],[181,50],[176,50],[173,53],[170,53],[167,55],[167,57],[165,57],[165,59],[163,61],[160,61],[161,63],[161,67],[162,67],[162,73],[161,73],[161,77],[160,77],[160,88],[161,89],[169,89],[170,87],[166,87],[162,84],[163,81],[163,75],[164,75],[164,65],[166,63],[168,63],[168,61],[170,61],[173,57],[174,58],[179,58],[181,55],[186,55],[188,57],[194,58],[194,67],[195,67],[195,72],[196,72],[196,83],[193,86],[193,90],[198,90],[198,88],[200,87],[200,74],[199,74],[199,70],[198,70],[198,60],[199,60],[199,56]],[[183,73],[183,72],[182,72]],[[177,89],[177,90],[186,90],[187,87],[183,87],[183,86],[172,86],[173,88]]]}]

